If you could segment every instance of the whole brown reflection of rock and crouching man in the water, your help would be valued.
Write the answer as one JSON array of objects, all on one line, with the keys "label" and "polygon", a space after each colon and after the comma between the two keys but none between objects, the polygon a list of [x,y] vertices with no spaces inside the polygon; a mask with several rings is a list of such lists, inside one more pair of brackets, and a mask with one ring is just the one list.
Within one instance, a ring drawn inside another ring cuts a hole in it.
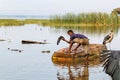
[{"label": "whole brown reflection of rock and crouching man in the water", "polygon": [[58,67],[56,74],[58,80],[89,80],[89,75],[91,75],[89,68],[101,65],[98,56],[88,58],[88,60],[87,58],[78,58],[71,61],[56,61],[53,59],[52,62]]}]

